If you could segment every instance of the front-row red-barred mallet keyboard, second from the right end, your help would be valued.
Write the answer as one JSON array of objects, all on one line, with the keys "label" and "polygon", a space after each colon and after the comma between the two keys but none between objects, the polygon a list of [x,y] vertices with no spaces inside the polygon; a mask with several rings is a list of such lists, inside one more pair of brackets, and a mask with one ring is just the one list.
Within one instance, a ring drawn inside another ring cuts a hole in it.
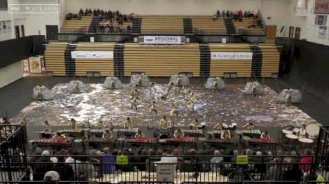
[{"label": "front-row red-barred mallet keyboard, second from the right end", "polygon": [[216,147],[217,149],[235,150],[237,143],[234,139],[208,139],[204,141],[204,149],[211,149],[213,147]]}]

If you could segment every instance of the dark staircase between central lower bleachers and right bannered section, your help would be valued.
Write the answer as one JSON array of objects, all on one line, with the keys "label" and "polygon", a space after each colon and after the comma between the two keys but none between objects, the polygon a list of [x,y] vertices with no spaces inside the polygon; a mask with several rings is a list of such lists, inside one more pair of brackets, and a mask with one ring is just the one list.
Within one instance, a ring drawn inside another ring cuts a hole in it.
[{"label": "dark staircase between central lower bleachers and right bannered section", "polygon": [[208,44],[200,44],[200,76],[205,79],[210,76],[211,52]]}]

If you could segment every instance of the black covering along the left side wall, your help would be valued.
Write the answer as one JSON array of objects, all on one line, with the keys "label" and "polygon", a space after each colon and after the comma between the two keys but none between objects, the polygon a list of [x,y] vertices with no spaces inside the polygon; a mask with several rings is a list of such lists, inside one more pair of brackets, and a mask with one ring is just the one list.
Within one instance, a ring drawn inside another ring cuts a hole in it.
[{"label": "black covering along the left side wall", "polygon": [[0,68],[28,57],[44,54],[44,36],[0,41]]}]

